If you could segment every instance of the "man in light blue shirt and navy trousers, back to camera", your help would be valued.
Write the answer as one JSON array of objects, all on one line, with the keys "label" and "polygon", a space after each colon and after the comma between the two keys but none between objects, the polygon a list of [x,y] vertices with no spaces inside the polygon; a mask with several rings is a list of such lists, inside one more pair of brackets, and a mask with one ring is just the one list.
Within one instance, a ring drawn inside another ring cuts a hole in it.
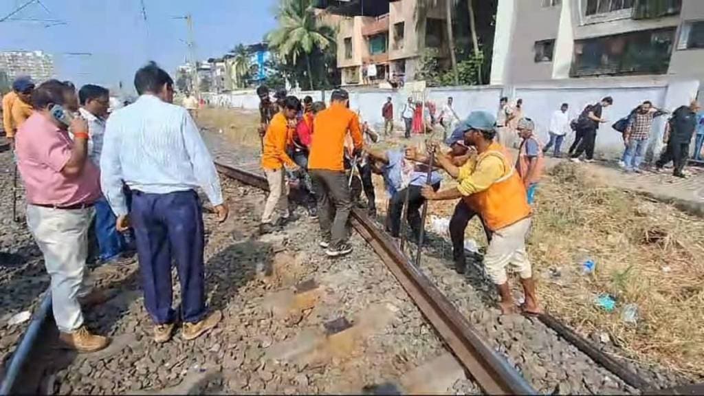
[{"label": "man in light blue shirt and navy trousers, back to camera", "polygon": [[[208,332],[222,319],[208,315],[203,275],[203,217],[196,188],[215,206],[220,222],[227,218],[220,180],[201,134],[186,109],[175,106],[173,80],[156,63],[137,70],[134,87],[140,97],[112,113],[101,156],[101,186],[117,228],[134,227],[144,304],[155,323],[154,340],[170,340],[175,323],[171,262],[181,284],[182,337]],[[127,213],[122,183],[132,190]]]}]

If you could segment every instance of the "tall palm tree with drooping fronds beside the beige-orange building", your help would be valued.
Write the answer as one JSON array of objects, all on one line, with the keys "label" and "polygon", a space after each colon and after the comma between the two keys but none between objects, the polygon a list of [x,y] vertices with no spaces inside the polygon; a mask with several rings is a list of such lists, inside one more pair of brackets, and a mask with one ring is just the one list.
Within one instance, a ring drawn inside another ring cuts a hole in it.
[{"label": "tall palm tree with drooping fronds beside the beige-orange building", "polygon": [[276,18],[279,27],[268,34],[269,47],[293,64],[305,56],[310,90],[315,89],[310,54],[316,49],[322,52],[333,47],[334,30],[315,17],[313,0],[281,0]]}]

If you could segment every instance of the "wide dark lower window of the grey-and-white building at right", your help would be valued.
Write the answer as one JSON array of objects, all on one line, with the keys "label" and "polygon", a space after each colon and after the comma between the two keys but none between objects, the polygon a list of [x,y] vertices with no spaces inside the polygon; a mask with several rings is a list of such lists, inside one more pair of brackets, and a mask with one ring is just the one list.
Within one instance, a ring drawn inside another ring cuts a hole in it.
[{"label": "wide dark lower window of the grey-and-white building at right", "polygon": [[643,30],[574,42],[570,75],[665,74],[670,66],[674,28]]}]

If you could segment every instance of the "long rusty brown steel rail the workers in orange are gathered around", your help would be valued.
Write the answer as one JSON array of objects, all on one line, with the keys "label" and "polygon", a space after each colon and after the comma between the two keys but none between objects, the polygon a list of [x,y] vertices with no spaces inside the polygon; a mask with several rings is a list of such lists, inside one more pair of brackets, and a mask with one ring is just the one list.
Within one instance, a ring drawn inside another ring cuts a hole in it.
[{"label": "long rusty brown steel rail the workers in orange are gathered around", "polygon": [[[215,163],[220,173],[268,190],[265,178],[249,171]],[[363,211],[353,209],[352,225],[372,246],[396,280],[422,311],[472,378],[489,395],[534,395],[536,391],[508,361],[486,345],[472,325],[419,268],[376,228]]]}]

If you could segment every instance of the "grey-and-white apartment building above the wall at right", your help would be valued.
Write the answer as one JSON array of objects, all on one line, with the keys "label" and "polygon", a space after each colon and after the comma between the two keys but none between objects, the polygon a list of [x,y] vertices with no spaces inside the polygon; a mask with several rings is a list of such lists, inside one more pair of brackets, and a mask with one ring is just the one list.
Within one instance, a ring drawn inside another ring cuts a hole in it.
[{"label": "grey-and-white apartment building above the wall at right", "polygon": [[703,0],[500,0],[491,84],[622,75],[704,80]]}]

